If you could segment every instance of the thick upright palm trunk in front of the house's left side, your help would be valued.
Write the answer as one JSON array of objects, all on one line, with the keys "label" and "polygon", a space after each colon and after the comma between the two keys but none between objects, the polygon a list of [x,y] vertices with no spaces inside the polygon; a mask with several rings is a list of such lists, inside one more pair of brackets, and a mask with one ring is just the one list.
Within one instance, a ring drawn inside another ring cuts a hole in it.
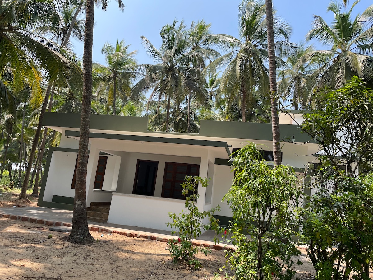
[{"label": "thick upright palm trunk in front of the house's left side", "polygon": [[87,184],[88,141],[92,100],[94,5],[94,0],[87,0],[83,51],[83,100],[79,135],[78,166],[76,167],[72,230],[68,237],[68,240],[73,243],[93,242],[93,237],[88,230],[85,188]]}]

